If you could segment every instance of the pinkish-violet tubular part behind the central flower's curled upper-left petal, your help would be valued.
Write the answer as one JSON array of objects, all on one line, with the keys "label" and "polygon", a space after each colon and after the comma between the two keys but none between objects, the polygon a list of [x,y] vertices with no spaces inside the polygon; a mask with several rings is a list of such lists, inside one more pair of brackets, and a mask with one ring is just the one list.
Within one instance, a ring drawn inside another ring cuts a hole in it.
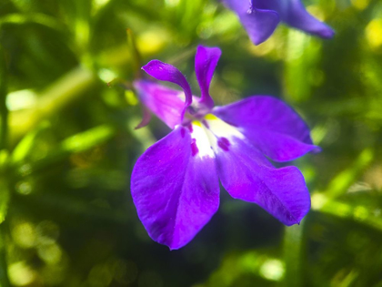
[{"label": "pinkish-violet tubular part behind the central flower's curled upper-left petal", "polygon": [[[170,128],[179,124],[185,106],[183,92],[168,88],[149,80],[136,80],[134,87],[140,101]],[[144,124],[145,126],[145,113]],[[138,128],[143,127],[141,124]]]}]

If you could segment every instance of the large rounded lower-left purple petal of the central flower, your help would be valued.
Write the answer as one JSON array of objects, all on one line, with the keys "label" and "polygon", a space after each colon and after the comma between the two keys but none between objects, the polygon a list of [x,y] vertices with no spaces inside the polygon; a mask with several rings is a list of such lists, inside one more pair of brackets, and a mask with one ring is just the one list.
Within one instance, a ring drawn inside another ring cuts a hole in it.
[{"label": "large rounded lower-left purple petal of the central flower", "polygon": [[138,217],[154,241],[172,250],[191,241],[218,208],[215,159],[199,152],[204,136],[178,126],[147,149],[133,170]]}]

